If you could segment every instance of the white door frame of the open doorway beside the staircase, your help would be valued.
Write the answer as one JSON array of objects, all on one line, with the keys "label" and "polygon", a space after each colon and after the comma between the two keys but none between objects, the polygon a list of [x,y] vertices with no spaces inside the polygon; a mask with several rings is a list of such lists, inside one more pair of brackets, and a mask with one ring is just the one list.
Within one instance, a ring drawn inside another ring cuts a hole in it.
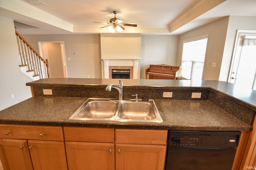
[{"label": "white door frame of the open doorway beside the staircase", "polygon": [[67,67],[66,67],[66,55],[65,55],[64,41],[37,41],[37,44],[38,44],[38,52],[39,52],[39,55],[42,56],[41,43],[60,43],[60,51],[61,51],[61,60],[62,60],[63,76],[64,76],[64,78],[68,77]]}]

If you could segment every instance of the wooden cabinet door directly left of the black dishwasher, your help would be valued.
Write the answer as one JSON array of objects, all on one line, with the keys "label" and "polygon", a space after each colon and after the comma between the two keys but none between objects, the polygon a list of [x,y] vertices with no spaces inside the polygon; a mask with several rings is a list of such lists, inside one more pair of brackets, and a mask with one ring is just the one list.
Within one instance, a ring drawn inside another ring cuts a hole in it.
[{"label": "wooden cabinet door directly left of the black dishwasher", "polygon": [[165,145],[116,144],[116,170],[164,170]]}]

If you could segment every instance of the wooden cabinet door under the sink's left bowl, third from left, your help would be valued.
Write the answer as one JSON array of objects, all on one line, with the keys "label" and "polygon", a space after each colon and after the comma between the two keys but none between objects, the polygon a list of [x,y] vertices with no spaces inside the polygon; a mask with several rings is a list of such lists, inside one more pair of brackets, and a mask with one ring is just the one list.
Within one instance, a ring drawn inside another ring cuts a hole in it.
[{"label": "wooden cabinet door under the sink's left bowl, third from left", "polygon": [[114,143],[66,142],[69,170],[115,170]]}]

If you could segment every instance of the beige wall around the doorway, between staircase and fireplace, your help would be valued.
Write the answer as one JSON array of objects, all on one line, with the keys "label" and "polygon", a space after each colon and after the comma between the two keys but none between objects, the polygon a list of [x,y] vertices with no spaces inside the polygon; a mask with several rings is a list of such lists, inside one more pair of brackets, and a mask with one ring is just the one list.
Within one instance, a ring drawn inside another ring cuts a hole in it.
[{"label": "beige wall around the doorway, between staircase and fireplace", "polygon": [[[22,37],[36,51],[38,51],[38,41],[64,41],[68,77],[101,78],[100,35],[22,35]],[[74,55],[74,52],[77,54]]]}]

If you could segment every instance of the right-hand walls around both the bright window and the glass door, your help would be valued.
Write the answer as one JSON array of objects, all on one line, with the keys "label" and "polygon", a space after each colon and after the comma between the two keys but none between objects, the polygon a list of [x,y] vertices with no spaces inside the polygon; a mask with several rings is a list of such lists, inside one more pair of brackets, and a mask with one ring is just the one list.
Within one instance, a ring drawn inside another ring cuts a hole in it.
[{"label": "right-hand walls around both the bright window and the glass door", "polygon": [[[256,17],[227,16],[180,35],[177,65],[181,63],[184,40],[209,34],[202,80],[228,81],[238,29],[256,30]],[[212,63],[217,63],[216,67]]]}]

